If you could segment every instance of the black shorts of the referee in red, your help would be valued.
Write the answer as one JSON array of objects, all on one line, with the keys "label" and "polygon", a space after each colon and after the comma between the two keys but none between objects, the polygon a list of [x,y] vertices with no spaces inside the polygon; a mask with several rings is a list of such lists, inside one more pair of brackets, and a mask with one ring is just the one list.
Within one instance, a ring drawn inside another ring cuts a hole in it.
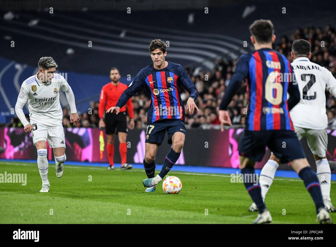
[{"label": "black shorts of the referee in red", "polygon": [[105,132],[108,135],[118,132],[127,133],[126,112],[120,112],[118,115],[115,112],[105,114]]}]

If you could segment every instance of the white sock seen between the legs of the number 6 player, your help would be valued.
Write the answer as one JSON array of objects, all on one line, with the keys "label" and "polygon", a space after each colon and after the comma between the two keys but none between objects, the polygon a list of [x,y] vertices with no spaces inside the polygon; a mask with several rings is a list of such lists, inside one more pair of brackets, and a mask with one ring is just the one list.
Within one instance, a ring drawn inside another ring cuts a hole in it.
[{"label": "white sock seen between the legs of the number 6 player", "polygon": [[265,201],[265,196],[271,187],[273,182],[275,172],[277,171],[279,165],[274,160],[268,160],[264,167],[261,169],[260,177],[259,177],[259,184],[261,188],[261,197],[262,200]]}]

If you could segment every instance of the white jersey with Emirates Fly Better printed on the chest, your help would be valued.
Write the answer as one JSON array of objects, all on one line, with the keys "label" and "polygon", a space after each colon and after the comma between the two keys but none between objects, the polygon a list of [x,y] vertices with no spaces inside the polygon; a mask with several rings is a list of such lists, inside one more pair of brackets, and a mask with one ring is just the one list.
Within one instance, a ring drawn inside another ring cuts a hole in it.
[{"label": "white jersey with Emirates Fly Better printed on the chest", "polygon": [[[63,112],[59,103],[59,90],[68,91],[68,82],[59,74],[54,74],[51,82],[42,83],[37,75],[29,77],[22,83],[17,101],[26,103],[30,123],[48,126],[62,125]],[[70,88],[71,89],[71,88]]]}]

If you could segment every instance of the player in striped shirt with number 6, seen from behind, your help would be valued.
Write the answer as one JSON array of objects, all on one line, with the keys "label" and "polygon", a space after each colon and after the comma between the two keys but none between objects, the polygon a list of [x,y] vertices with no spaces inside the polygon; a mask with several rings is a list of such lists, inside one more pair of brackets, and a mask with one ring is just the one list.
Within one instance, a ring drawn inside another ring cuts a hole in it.
[{"label": "player in striped shirt with number 6, seen from behind", "polygon": [[[254,165],[256,161],[261,161],[266,146],[282,162],[290,162],[303,179],[315,203],[320,223],[332,223],[329,213],[324,208],[319,180],[305,158],[289,115],[289,111],[300,100],[293,67],[284,55],[272,50],[276,36],[270,20],[256,20],[250,26],[250,33],[255,51],[239,58],[219,107],[219,120],[222,128],[223,124],[231,125],[227,106],[241,82],[247,79],[249,104],[245,131],[238,150],[245,187],[259,211],[254,223],[272,221],[262,200],[260,185],[254,182]],[[287,92],[290,95],[288,100]]]}]

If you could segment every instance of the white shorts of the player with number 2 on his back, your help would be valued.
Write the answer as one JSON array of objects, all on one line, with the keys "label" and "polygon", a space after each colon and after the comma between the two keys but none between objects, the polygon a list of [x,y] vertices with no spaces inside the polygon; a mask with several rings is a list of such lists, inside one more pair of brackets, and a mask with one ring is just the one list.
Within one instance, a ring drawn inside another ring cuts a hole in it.
[{"label": "white shorts of the player with number 2 on his back", "polygon": [[302,139],[307,138],[308,146],[314,155],[325,157],[328,146],[327,129],[307,129],[294,126],[297,137]]}]

